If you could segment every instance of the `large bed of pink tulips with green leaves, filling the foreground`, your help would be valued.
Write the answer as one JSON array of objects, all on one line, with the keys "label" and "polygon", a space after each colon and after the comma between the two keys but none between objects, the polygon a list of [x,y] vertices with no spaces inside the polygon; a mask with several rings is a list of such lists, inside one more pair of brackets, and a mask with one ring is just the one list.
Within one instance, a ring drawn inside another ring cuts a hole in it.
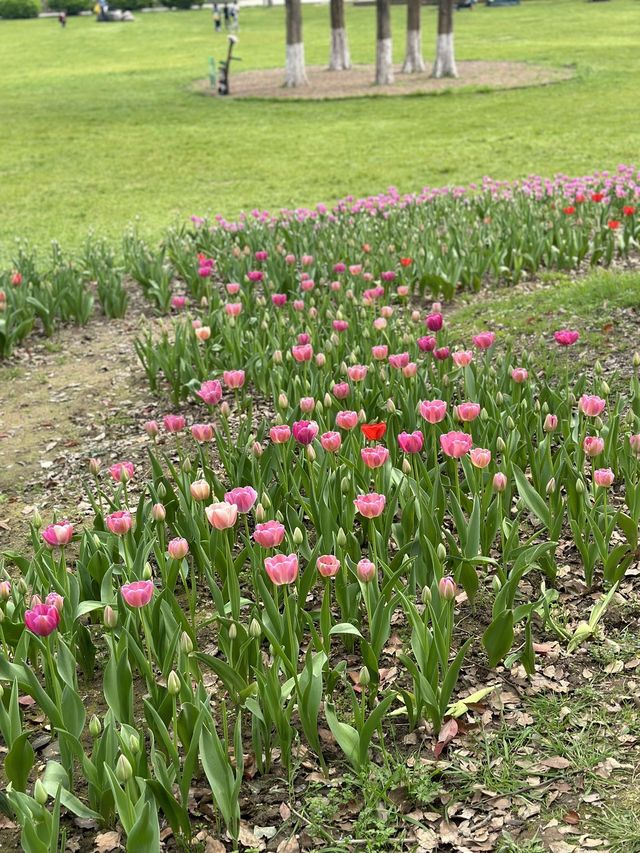
[{"label": "large bed of pink tulips with green leaves, filling the foreground", "polygon": [[[136,342],[175,411],[140,425],[146,467],[90,460],[91,521],[36,518],[32,554],[4,555],[0,733],[23,850],[64,850],[72,818],[119,826],[131,851],[188,845],[204,787],[211,850],[293,853],[288,836],[247,840],[248,780],[292,801],[302,766],[318,784],[342,768],[366,790],[395,778],[399,740],[428,752],[431,802],[499,679],[535,683],[552,643],[596,637],[638,560],[640,356],[612,391],[598,364],[576,375],[579,329],[515,353],[492,329],[461,340],[424,296],[632,251],[635,211],[608,224],[620,186],[579,214],[558,206],[578,185],[558,183],[198,222],[160,252],[127,236],[127,269],[177,312]],[[529,224],[546,241],[533,261]],[[567,560],[579,619],[561,606]],[[406,849],[437,849],[421,821]]]}]

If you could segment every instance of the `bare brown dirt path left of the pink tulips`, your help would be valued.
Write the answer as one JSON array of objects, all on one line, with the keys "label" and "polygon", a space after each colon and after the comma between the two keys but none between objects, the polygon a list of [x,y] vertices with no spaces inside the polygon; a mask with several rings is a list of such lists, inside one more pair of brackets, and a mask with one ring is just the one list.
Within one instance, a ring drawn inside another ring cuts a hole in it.
[{"label": "bare brown dirt path left of the pink tulips", "polygon": [[138,425],[155,404],[133,348],[142,316],[33,338],[0,367],[0,550],[22,546],[36,507],[47,522],[83,518],[92,456],[109,465],[144,452]]}]

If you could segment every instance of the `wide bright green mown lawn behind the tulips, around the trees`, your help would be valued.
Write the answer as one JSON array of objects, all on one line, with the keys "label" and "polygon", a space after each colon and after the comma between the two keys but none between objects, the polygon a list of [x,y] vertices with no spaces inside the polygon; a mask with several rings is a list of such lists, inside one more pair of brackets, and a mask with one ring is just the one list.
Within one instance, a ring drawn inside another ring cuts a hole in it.
[{"label": "wide bright green mown lawn behind the tulips, around the trees", "polygon": [[[395,54],[405,10],[394,7]],[[304,7],[307,61],[328,55],[327,7]],[[356,62],[374,8],[349,8]],[[282,8],[243,10],[243,68],[284,58]],[[424,10],[433,55],[435,11]],[[211,14],[135,24],[0,21],[0,251],[16,235],[78,244],[140,216],[159,233],[191,213],[331,202],[390,184],[585,173],[640,150],[640,2],[525,0],[456,16],[459,59],[575,64],[576,77],[508,92],[349,101],[222,101],[191,91],[222,55]],[[240,64],[238,64],[240,67]]]}]

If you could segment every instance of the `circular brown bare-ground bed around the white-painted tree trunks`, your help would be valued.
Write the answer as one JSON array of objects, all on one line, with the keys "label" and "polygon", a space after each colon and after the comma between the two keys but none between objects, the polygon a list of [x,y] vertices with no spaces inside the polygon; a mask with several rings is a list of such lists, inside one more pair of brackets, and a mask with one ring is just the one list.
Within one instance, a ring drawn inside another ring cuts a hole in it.
[{"label": "circular brown bare-ground bed around the white-painted tree trunks", "polygon": [[[371,95],[429,94],[446,89],[517,89],[558,83],[573,76],[572,68],[550,68],[525,62],[459,62],[459,76],[441,80],[429,76],[430,65],[422,74],[402,74],[400,67],[395,66],[395,83],[392,86],[376,86],[373,82],[373,65],[354,65],[350,71],[328,71],[325,66],[308,66],[309,85],[294,89],[282,85],[283,68],[241,71],[231,74],[231,97],[326,100]],[[208,81],[200,81],[197,90],[203,94],[216,94]]]}]

